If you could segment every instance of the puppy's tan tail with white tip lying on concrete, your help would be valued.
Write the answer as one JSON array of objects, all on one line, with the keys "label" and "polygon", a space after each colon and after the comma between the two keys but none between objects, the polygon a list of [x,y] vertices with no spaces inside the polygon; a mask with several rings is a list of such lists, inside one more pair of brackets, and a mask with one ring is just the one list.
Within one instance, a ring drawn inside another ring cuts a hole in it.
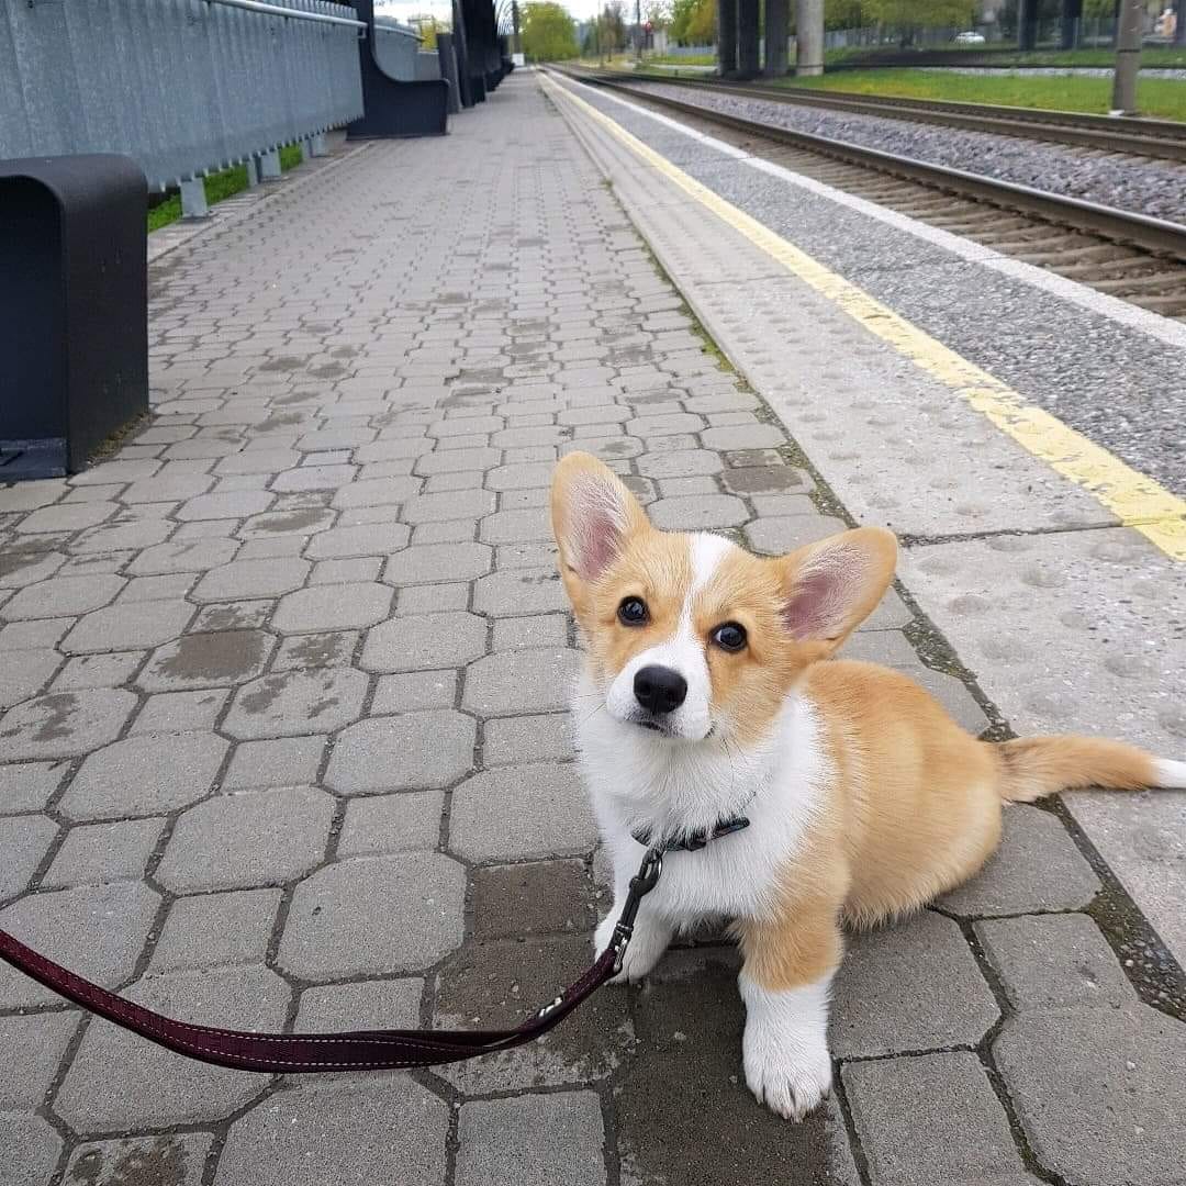
[{"label": "puppy's tan tail with white tip lying on concrete", "polygon": [[1186,761],[1154,758],[1122,741],[1099,738],[1020,738],[994,745],[1002,799],[1032,803],[1072,786],[1137,791],[1186,788]]}]

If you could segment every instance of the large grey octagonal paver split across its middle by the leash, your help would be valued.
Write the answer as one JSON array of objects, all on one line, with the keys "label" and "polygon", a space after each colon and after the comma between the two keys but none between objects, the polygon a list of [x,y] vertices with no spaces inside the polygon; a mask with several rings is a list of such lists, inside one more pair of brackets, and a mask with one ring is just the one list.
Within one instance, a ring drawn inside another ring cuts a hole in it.
[{"label": "large grey octagonal paver split across its middle by the leash", "polygon": [[[198,1025],[279,1029],[291,989],[270,969],[215,968],[145,976],[125,994]],[[179,1058],[116,1026],[87,1031],[55,1108],[78,1133],[219,1120],[267,1090],[268,1077]]]}]

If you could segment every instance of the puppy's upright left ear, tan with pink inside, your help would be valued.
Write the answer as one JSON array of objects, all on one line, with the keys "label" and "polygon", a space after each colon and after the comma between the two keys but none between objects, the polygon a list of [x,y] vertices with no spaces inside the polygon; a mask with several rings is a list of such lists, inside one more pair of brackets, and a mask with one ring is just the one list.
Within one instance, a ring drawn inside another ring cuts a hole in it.
[{"label": "puppy's upright left ear, tan with pink inside", "polygon": [[566,584],[595,581],[646,516],[621,479],[589,453],[569,453],[551,478],[551,531]]}]

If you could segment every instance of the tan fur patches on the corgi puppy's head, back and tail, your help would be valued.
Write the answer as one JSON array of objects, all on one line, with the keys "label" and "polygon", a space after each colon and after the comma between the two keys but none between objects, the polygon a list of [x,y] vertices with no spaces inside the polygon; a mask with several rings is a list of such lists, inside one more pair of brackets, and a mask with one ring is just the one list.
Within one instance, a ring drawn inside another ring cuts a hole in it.
[{"label": "tan fur patches on the corgi puppy's head, back and tail", "polygon": [[[621,504],[613,559],[594,579],[576,572],[572,554],[568,505],[581,483],[600,483]],[[688,537],[655,530],[619,479],[587,454],[557,466],[551,515],[591,662],[612,676],[676,629],[691,579]],[[982,742],[906,676],[831,661],[893,580],[895,555],[894,537],[873,528],[772,560],[731,554],[694,599],[713,712],[729,734],[742,745],[767,735],[795,689],[815,706],[828,755],[824,802],[782,873],[779,910],[737,924],[746,973],[766,989],[810,984],[834,970],[842,922],[868,926],[908,913],[975,874],[1000,841],[1005,801],[1029,802],[1070,786],[1135,789],[1156,779],[1152,758],[1116,741]],[[812,616],[812,582],[822,572],[843,574],[844,595],[831,599],[831,612]],[[645,627],[618,621],[629,595],[650,607]],[[723,621],[745,626],[745,651],[708,644]]]}]

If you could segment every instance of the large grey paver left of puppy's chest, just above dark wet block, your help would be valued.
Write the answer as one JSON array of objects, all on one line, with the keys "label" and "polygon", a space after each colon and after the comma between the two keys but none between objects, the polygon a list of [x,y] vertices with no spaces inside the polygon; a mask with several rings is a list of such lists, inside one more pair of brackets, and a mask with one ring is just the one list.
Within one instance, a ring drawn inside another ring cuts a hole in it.
[{"label": "large grey paver left of puppy's chest, just above dark wet block", "polygon": [[587,853],[597,828],[576,767],[503,766],[453,792],[449,848],[474,861]]}]

